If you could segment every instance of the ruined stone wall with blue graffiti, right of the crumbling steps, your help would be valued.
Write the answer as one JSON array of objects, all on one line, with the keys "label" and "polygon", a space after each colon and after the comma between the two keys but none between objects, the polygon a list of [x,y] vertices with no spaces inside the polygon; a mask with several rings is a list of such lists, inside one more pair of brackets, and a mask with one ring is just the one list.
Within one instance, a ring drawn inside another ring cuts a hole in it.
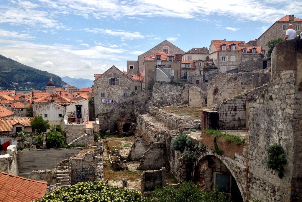
[{"label": "ruined stone wall with blue graffiti, right of the crumbling steps", "polygon": [[95,180],[95,151],[89,151],[82,158],[72,158],[71,184]]}]

